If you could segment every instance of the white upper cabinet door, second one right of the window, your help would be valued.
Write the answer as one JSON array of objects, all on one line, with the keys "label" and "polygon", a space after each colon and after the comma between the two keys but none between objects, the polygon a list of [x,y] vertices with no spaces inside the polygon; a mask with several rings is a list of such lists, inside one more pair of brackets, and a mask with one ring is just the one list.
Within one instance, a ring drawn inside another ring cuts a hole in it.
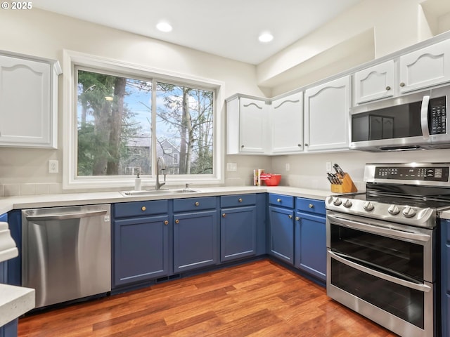
[{"label": "white upper cabinet door, second one right of the window", "polygon": [[273,154],[303,152],[303,92],[272,101]]}]

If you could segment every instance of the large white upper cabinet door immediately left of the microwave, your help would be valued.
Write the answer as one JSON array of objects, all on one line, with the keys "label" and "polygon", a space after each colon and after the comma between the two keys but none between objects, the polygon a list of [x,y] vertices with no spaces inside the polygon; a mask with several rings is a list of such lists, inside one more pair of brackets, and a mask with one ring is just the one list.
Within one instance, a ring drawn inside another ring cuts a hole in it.
[{"label": "large white upper cabinet door immediately left of the microwave", "polygon": [[307,89],[304,93],[304,150],[348,150],[350,77]]}]

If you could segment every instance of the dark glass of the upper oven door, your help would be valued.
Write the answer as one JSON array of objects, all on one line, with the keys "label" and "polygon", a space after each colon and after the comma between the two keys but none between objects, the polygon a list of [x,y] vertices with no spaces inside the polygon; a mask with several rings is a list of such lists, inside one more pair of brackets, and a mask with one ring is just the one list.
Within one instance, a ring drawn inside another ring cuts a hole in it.
[{"label": "dark glass of the upper oven door", "polygon": [[[371,232],[330,224],[330,248],[394,277],[423,282],[424,247]],[[432,281],[432,280],[431,280]]]}]

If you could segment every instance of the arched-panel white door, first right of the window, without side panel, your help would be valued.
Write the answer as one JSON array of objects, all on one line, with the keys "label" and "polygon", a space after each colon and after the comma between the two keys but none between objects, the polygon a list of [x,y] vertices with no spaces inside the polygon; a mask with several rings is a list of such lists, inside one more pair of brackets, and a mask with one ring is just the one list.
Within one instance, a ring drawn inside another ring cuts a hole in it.
[{"label": "arched-panel white door, first right of the window, without side panel", "polygon": [[264,100],[240,98],[239,103],[239,140],[240,152],[264,154],[266,152],[267,110]]}]

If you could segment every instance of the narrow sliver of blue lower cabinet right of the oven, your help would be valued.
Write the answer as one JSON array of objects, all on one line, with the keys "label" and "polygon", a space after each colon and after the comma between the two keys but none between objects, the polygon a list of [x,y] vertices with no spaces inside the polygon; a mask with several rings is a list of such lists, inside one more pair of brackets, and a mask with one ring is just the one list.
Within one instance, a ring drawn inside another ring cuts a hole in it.
[{"label": "narrow sliver of blue lower cabinet right of the oven", "polygon": [[[450,336],[450,220],[441,220],[441,319],[442,337]],[[438,310],[439,311],[439,310]]]}]

